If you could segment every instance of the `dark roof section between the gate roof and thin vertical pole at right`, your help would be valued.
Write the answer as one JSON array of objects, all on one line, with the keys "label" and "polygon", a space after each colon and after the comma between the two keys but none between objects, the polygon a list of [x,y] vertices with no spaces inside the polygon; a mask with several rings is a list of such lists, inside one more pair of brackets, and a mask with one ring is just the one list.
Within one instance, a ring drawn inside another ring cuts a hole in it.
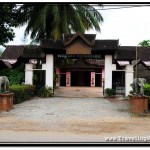
[{"label": "dark roof section between the gate roof and thin vertical pole at right", "polygon": [[120,46],[116,51],[117,60],[134,60],[136,59],[135,46]]}]

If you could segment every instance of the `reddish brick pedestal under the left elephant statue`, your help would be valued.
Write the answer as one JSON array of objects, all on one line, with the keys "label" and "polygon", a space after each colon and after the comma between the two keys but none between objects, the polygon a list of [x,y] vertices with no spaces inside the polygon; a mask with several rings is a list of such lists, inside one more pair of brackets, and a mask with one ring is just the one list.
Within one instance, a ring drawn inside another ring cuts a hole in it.
[{"label": "reddish brick pedestal under the left elephant statue", "polygon": [[9,111],[13,109],[14,93],[1,93],[0,94],[0,112]]}]

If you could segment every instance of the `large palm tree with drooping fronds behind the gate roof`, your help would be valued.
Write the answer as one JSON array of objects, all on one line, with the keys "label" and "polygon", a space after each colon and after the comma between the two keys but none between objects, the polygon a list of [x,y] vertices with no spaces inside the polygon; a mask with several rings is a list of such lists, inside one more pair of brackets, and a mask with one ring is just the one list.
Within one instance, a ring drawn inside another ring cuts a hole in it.
[{"label": "large palm tree with drooping fronds behind the gate roof", "polygon": [[20,25],[27,23],[25,36],[31,32],[31,39],[37,42],[44,38],[59,40],[62,33],[100,31],[103,21],[89,4],[24,4],[19,11],[25,16]]}]

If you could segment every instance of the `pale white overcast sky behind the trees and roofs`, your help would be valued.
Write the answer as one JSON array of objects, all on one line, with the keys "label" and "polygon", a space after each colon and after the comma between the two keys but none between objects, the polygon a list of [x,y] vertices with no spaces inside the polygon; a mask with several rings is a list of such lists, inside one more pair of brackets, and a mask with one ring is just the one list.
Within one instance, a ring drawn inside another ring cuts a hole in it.
[{"label": "pale white overcast sky behind the trees and roofs", "polygon": [[[100,24],[101,32],[86,32],[96,34],[96,39],[119,39],[121,46],[138,46],[141,41],[150,40],[150,6],[99,11],[104,18]],[[25,43],[22,40],[24,30],[25,26],[14,29],[16,37],[6,45],[29,44],[30,37],[27,37]]]}]

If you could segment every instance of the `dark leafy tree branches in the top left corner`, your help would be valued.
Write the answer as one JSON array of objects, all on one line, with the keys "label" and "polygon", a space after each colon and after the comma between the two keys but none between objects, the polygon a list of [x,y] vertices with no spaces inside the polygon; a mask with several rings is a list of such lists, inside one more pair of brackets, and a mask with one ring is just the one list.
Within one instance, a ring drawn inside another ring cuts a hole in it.
[{"label": "dark leafy tree branches in the top left corner", "polygon": [[20,18],[16,4],[0,4],[0,45],[13,40],[12,27],[18,26]]}]

